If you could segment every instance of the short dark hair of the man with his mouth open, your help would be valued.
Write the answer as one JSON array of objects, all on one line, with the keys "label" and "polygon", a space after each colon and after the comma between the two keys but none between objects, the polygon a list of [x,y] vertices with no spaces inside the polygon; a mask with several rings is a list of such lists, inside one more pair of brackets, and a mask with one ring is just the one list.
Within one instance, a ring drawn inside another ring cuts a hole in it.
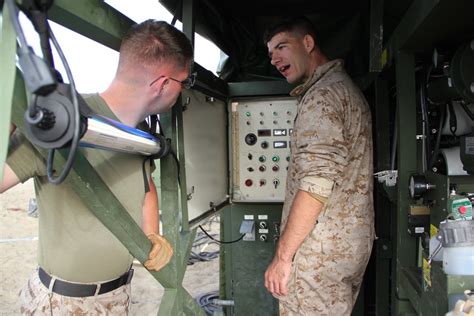
[{"label": "short dark hair of the man with his mouth open", "polygon": [[304,16],[285,17],[273,25],[269,26],[263,33],[263,43],[265,45],[278,33],[288,32],[301,37],[311,35],[316,42],[316,28],[311,21]]}]

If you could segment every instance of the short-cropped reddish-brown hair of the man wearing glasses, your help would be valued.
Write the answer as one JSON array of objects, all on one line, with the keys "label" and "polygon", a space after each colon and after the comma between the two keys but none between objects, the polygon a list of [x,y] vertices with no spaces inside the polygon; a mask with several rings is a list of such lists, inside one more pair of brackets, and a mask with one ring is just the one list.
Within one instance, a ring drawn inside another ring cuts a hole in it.
[{"label": "short-cropped reddish-brown hair of the man wearing glasses", "polygon": [[184,68],[193,59],[193,48],[183,32],[157,20],[135,24],[120,45],[119,68],[130,63],[174,63]]}]

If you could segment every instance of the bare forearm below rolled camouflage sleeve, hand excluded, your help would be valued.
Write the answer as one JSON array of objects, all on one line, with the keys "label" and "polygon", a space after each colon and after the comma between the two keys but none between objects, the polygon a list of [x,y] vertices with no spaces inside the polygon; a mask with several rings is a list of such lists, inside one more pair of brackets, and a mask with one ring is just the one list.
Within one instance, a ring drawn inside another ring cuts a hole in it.
[{"label": "bare forearm below rolled camouflage sleeve, hand excluded", "polygon": [[275,257],[291,261],[306,236],[316,225],[323,204],[305,191],[298,191],[291,206],[288,222],[278,242]]}]

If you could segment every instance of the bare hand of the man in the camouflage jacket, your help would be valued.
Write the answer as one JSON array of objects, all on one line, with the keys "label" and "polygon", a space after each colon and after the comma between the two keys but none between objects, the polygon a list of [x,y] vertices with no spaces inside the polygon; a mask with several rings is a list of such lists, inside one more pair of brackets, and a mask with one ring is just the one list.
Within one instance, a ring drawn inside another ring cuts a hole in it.
[{"label": "bare hand of the man in the camouflage jacket", "polygon": [[265,271],[265,287],[273,296],[288,294],[288,280],[291,272],[291,261],[283,261],[277,257]]}]

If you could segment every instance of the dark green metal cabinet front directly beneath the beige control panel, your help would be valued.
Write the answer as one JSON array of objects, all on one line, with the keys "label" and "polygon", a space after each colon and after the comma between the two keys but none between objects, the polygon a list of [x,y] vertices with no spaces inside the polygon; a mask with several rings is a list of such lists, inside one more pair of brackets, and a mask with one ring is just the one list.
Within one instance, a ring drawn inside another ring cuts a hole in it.
[{"label": "dark green metal cabinet front directly beneath the beige control panel", "polygon": [[[275,234],[275,225],[279,227],[281,207],[281,204],[233,204],[224,210],[223,238],[226,241],[241,236],[239,228],[244,215],[255,218],[255,241],[241,240],[224,245],[224,299],[235,302],[234,307],[227,308],[227,315],[278,315],[278,302],[265,289],[263,275],[275,252],[273,238],[279,234]],[[259,240],[258,215],[268,216],[268,239],[264,242]]]}]

